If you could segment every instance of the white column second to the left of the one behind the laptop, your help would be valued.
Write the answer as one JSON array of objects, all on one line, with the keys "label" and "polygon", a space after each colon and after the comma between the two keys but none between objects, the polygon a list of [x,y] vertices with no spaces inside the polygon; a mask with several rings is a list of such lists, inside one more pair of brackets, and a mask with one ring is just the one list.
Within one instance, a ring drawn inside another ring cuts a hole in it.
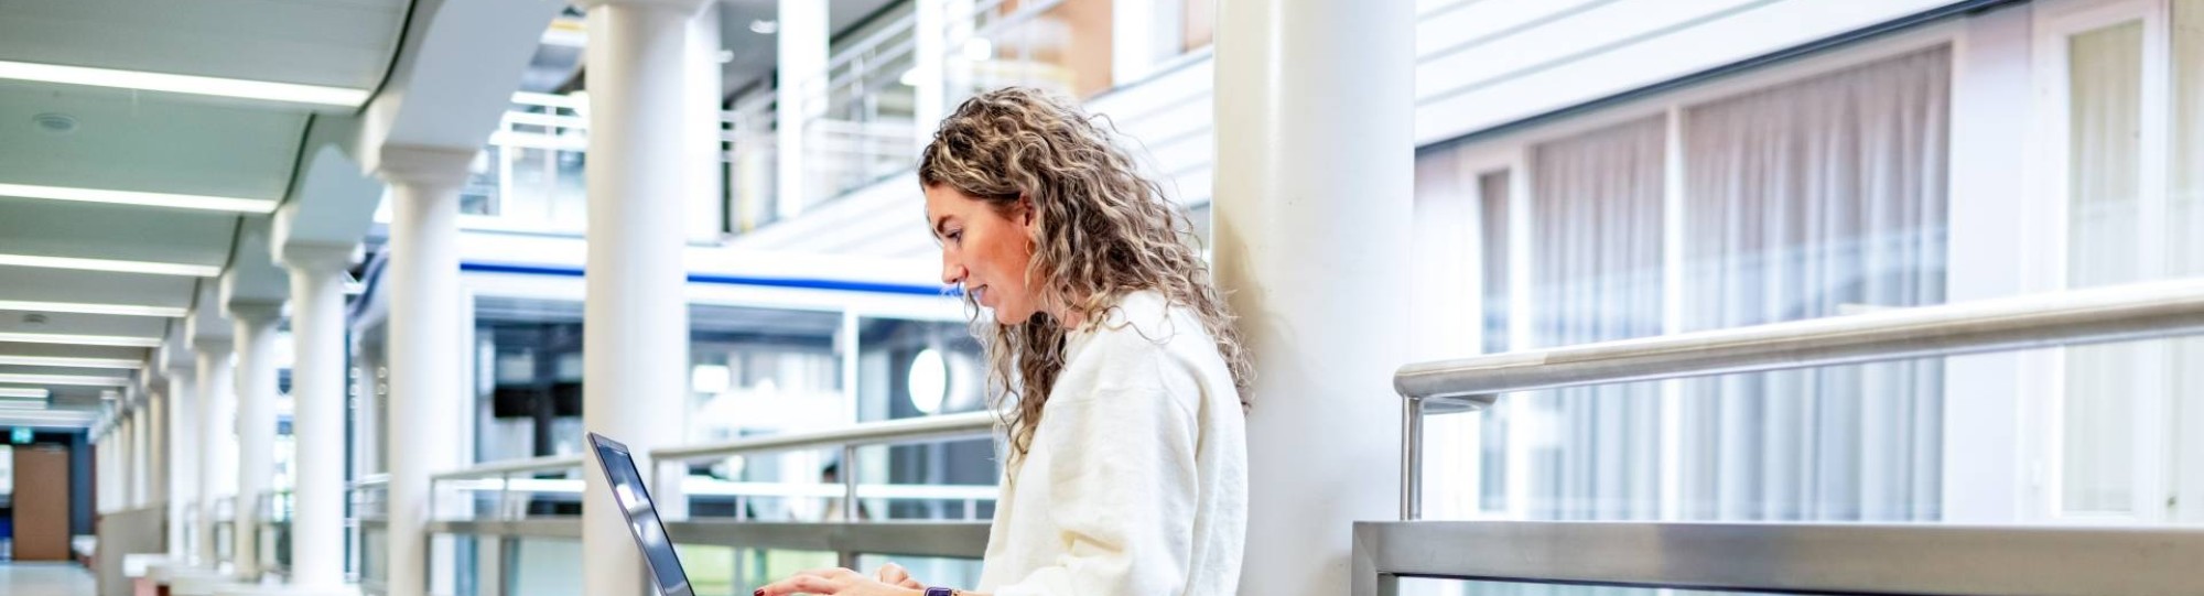
[{"label": "white column second to the left of the one behind the laptop", "polygon": [[344,585],[344,267],[350,247],[284,245],[291,272],[291,585]]}]

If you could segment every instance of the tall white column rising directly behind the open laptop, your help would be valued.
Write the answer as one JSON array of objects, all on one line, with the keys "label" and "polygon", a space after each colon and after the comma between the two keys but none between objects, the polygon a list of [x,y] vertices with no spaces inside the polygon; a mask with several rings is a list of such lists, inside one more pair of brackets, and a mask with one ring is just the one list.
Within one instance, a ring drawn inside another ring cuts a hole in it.
[{"label": "tall white column rising directly behind the open laptop", "polygon": [[[820,2],[824,4],[824,2]],[[681,53],[696,0],[588,7],[588,280],[582,426],[648,453],[688,395],[683,298]],[[787,2],[782,2],[787,9]],[[787,33],[787,22],[782,22]],[[650,470],[648,457],[637,468]],[[604,475],[582,494],[582,594],[637,594],[641,558]]]}]

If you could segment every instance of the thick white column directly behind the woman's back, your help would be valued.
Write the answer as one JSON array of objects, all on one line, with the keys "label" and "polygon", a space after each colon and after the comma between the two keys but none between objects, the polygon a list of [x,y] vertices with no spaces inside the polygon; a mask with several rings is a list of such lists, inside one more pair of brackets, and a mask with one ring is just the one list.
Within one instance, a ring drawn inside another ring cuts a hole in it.
[{"label": "thick white column directly behind the woman's back", "polygon": [[1400,519],[1415,11],[1221,0],[1217,31],[1217,280],[1258,373],[1241,592],[1347,594],[1353,523]]}]

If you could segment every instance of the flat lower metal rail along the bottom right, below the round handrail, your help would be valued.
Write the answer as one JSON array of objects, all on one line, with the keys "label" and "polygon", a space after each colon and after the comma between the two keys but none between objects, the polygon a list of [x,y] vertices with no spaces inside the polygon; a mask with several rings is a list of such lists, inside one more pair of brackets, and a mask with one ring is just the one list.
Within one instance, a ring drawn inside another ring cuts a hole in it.
[{"label": "flat lower metal rail along the bottom right, below the round handrail", "polygon": [[1360,521],[1349,594],[1393,596],[1404,576],[1754,594],[2197,594],[2191,561],[2204,561],[2204,532],[2175,528]]}]

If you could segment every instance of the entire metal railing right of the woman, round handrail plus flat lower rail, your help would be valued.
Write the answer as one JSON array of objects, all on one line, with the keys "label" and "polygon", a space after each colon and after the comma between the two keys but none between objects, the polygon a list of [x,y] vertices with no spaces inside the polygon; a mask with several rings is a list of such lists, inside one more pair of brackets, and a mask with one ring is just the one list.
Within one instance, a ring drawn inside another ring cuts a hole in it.
[{"label": "entire metal railing right of the woman, round handrail plus flat lower rail", "polygon": [[2197,333],[2204,278],[1408,364],[1393,375],[1404,397],[1402,521],[1355,523],[1355,594],[1395,594],[1400,576],[1876,594],[2105,594],[2120,585],[2114,592],[2193,594],[2193,570],[2173,561],[2204,561],[2204,532],[2195,530],[1417,519],[1424,415],[1483,408],[1503,393]]}]

